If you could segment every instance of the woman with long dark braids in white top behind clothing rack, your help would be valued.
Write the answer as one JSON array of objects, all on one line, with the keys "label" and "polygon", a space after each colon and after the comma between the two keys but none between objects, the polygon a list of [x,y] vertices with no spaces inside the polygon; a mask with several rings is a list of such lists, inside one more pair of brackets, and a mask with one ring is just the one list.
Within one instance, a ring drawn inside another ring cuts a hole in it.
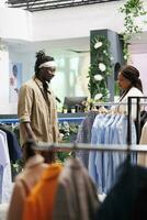
[{"label": "woman with long dark braids in white top behind clothing rack", "polygon": [[[118,74],[118,86],[122,89],[121,102],[127,103],[128,97],[143,97],[143,86],[139,78],[139,72],[134,66],[124,66]],[[136,105],[136,100],[132,100]],[[132,106],[132,118],[136,118],[136,106]],[[127,105],[120,105],[117,111],[121,113],[127,113]]]}]

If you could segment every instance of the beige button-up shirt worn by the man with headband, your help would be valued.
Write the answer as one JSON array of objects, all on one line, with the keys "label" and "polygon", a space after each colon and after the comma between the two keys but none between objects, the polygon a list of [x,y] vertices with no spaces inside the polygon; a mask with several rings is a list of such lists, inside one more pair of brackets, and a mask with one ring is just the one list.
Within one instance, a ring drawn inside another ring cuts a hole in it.
[{"label": "beige button-up shirt worn by the man with headband", "polygon": [[20,119],[20,141],[23,145],[27,135],[22,123],[30,122],[38,142],[58,142],[57,111],[53,91],[45,94],[37,78],[26,81],[19,92],[18,116]]}]

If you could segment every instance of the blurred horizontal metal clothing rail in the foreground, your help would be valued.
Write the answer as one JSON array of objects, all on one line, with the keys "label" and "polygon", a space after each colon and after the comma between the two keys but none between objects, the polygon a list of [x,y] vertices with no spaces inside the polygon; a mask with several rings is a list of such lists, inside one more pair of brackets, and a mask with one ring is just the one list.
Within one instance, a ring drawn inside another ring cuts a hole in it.
[{"label": "blurred horizontal metal clothing rail in the foreground", "polygon": [[[30,143],[30,142],[29,142]],[[35,143],[31,142],[32,148],[36,151],[79,151],[79,150],[84,150],[84,151],[114,151],[114,152],[128,152],[128,147],[126,144],[120,145],[120,144],[83,144],[83,143]],[[129,151],[131,152],[142,152],[145,153],[147,152],[147,145],[129,145]]]}]

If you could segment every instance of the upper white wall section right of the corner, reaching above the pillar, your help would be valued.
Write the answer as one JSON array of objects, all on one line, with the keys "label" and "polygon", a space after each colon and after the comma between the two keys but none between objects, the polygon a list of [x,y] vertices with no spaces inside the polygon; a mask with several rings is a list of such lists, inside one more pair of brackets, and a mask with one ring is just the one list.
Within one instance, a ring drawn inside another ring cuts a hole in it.
[{"label": "upper white wall section right of the corner, reaching above the pillar", "polygon": [[123,30],[121,3],[98,3],[33,13],[34,41],[89,36],[90,30]]}]

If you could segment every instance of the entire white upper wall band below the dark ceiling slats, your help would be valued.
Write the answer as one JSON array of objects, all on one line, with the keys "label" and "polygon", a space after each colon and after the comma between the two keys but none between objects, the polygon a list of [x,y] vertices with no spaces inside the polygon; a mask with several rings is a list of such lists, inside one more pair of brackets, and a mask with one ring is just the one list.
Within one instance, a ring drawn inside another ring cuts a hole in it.
[{"label": "entire white upper wall band below the dark ceiling slats", "polygon": [[[118,9],[123,3],[124,1],[114,1],[33,13],[2,7],[0,8],[0,37],[18,41],[50,41],[89,36],[91,30],[100,29],[121,33],[124,31],[124,20]],[[147,9],[147,1],[145,8]]]}]

